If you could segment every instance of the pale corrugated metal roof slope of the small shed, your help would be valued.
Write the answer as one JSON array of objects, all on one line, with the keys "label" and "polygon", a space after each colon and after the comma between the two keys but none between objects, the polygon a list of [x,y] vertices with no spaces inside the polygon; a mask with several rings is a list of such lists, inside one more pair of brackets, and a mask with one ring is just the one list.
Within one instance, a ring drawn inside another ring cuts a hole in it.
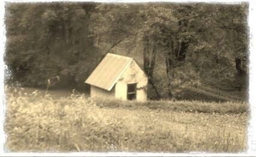
[{"label": "pale corrugated metal roof slope of the small shed", "polygon": [[85,83],[110,91],[131,61],[130,57],[108,53]]}]

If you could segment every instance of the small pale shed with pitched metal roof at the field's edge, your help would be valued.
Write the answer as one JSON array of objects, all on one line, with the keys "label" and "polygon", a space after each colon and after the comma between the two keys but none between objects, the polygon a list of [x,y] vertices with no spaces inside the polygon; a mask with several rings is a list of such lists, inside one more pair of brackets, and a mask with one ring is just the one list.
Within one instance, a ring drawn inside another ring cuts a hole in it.
[{"label": "small pale shed with pitched metal roof at the field's edge", "polygon": [[85,83],[91,97],[147,100],[147,75],[130,57],[107,53]]}]

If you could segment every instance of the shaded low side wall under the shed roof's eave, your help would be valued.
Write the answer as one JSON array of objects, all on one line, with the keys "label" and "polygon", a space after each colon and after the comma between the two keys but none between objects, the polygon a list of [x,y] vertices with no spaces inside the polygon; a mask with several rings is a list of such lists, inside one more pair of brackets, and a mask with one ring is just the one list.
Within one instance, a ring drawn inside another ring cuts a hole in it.
[{"label": "shaded low side wall under the shed roof's eave", "polygon": [[98,97],[98,98],[115,98],[115,86],[112,88],[111,91],[104,90],[102,88],[95,87],[91,85],[91,97]]}]

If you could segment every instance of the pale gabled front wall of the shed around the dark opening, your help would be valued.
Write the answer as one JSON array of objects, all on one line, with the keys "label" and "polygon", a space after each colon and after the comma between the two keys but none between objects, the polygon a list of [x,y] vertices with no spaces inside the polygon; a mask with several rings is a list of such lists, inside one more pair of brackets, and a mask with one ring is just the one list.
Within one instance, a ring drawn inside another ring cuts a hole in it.
[{"label": "pale gabled front wall of the shed around the dark opening", "polygon": [[137,101],[147,100],[147,76],[140,69],[137,63],[132,60],[129,67],[122,74],[116,83],[115,97],[121,100],[127,100],[127,84],[137,83]]}]

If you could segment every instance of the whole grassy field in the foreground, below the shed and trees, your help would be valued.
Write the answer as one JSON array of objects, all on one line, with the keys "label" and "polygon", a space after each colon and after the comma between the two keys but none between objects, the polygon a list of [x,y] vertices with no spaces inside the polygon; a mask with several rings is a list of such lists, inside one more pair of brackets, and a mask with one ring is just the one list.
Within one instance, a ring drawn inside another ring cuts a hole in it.
[{"label": "whole grassy field in the foreground, below the shed and trees", "polygon": [[246,150],[246,103],[137,103],[6,90],[5,144],[12,152]]}]

